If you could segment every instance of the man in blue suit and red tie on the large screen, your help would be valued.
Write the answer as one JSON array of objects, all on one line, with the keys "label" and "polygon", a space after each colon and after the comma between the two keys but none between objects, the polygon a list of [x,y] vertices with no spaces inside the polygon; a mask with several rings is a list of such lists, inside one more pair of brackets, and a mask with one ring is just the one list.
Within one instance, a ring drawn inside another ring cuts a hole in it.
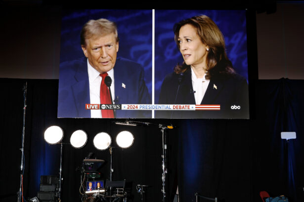
[{"label": "man in blue suit and red tie on the large screen", "polygon": [[[135,110],[85,109],[86,103],[151,103],[143,68],[128,59],[117,58],[119,38],[114,22],[107,19],[88,21],[81,31],[81,48],[85,58],[60,64],[58,117],[151,117],[151,112]],[[108,76],[112,80],[111,91]]]}]

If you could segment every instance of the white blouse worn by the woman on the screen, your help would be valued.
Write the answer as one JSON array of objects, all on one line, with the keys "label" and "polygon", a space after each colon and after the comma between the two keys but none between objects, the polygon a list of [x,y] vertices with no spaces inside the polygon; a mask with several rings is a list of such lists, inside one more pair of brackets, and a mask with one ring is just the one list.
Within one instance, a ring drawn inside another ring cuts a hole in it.
[{"label": "white blouse worn by the woman on the screen", "polygon": [[191,79],[192,79],[192,87],[195,98],[195,104],[201,104],[204,95],[207,91],[207,87],[209,85],[210,80],[206,79],[206,73],[204,74],[203,78],[197,78],[192,67],[191,67]]}]

